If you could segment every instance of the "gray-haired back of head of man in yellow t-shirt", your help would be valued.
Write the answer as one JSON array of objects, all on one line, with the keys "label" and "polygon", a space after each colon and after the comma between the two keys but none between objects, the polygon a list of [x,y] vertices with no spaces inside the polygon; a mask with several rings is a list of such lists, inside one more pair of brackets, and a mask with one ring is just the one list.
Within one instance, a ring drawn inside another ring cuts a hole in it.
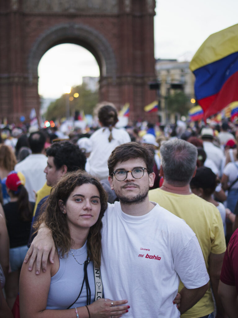
[{"label": "gray-haired back of head of man in yellow t-shirt", "polygon": [[191,143],[173,139],[164,141],[160,147],[164,178],[175,186],[189,184],[197,164],[198,151]]}]

